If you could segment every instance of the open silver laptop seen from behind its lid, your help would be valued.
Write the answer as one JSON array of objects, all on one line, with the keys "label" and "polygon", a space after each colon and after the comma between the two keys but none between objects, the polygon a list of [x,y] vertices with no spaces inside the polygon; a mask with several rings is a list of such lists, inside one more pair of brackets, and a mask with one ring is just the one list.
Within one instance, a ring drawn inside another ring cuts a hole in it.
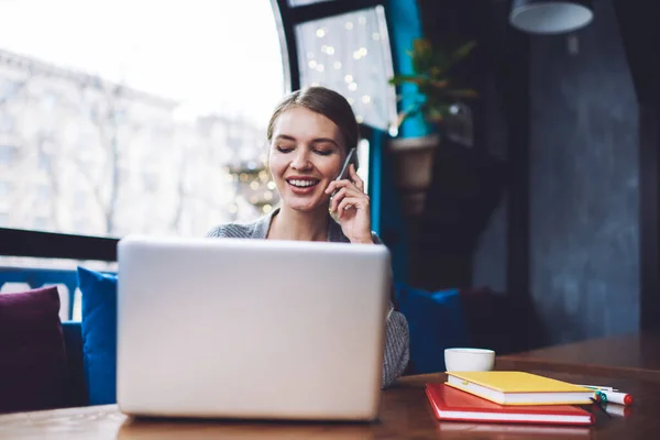
[{"label": "open silver laptop seen from behind its lid", "polygon": [[384,245],[131,235],[118,263],[122,413],[377,418]]}]

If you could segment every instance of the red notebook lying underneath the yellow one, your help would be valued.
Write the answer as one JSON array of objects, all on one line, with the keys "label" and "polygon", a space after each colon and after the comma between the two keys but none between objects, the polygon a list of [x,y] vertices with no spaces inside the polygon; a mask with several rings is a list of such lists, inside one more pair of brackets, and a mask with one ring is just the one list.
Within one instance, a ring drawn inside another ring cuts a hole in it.
[{"label": "red notebook lying underneath the yellow one", "polygon": [[551,425],[595,421],[593,414],[571,405],[504,406],[444,384],[427,384],[426,393],[439,420]]}]

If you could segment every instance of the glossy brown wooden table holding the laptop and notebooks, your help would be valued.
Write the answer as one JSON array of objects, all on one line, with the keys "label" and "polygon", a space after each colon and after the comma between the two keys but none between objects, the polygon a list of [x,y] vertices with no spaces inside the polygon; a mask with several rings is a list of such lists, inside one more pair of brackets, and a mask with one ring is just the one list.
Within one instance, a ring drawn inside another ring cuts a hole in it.
[{"label": "glossy brown wooden table holding the laptop and notebooks", "polygon": [[[288,424],[131,419],[116,406],[57,409],[0,416],[0,439],[654,439],[660,430],[660,383],[535,371],[574,383],[612,384],[631,393],[627,416],[598,413],[591,428],[439,422],[424,393],[444,374],[405,377],[383,393],[373,424]],[[623,407],[618,407],[619,409]]]}]

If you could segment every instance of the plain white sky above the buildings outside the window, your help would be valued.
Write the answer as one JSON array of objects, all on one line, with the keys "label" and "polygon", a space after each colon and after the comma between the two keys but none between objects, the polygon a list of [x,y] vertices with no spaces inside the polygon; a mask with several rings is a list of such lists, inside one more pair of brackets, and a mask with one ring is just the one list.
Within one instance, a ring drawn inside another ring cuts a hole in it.
[{"label": "plain white sky above the buildings outside the window", "polygon": [[0,0],[0,48],[265,127],[284,94],[271,0]]}]

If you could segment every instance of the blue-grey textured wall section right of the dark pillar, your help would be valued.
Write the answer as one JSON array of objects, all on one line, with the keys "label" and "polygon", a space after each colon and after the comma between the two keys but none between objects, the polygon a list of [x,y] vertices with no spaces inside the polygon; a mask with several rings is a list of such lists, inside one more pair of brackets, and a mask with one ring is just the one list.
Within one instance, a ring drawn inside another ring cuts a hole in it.
[{"label": "blue-grey textured wall section right of the dark pillar", "polygon": [[530,290],[559,343],[639,326],[639,118],[614,7],[530,38]]}]

